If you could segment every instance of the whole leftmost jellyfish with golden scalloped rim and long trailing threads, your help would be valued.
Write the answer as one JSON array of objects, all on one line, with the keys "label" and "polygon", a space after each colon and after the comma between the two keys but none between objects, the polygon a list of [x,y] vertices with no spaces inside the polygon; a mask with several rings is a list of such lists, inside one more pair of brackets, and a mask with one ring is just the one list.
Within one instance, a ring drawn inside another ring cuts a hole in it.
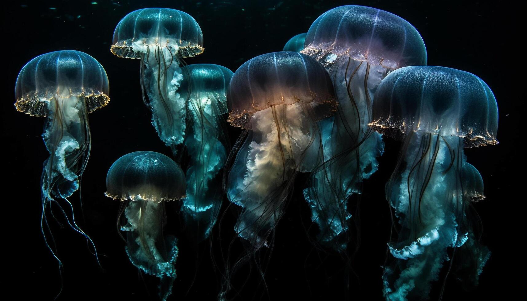
[{"label": "whole leftmost jellyfish with golden scalloped rim and long trailing threads", "polygon": [[80,188],[90,157],[88,113],[108,104],[108,94],[108,76],[101,64],[74,50],[35,57],[22,68],[16,80],[16,109],[46,118],[42,138],[50,157],[44,162],[41,177],[41,230],[60,268],[62,263],[48,224],[50,213],[57,222],[56,217],[62,215],[67,226],[82,234],[97,255],[90,237],[77,226],[72,203],[67,198]]}]

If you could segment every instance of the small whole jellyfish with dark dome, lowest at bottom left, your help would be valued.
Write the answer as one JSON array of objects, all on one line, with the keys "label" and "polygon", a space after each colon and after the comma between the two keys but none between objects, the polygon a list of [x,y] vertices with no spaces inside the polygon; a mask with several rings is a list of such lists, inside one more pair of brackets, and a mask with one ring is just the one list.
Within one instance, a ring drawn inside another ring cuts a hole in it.
[{"label": "small whole jellyfish with dark dome, lowest at bottom left", "polygon": [[123,203],[126,224],[126,254],[131,263],[160,279],[159,297],[172,292],[178,258],[177,240],[163,235],[165,202],[180,200],[185,194],[181,168],[164,154],[138,151],[115,161],[106,176],[106,196]]}]

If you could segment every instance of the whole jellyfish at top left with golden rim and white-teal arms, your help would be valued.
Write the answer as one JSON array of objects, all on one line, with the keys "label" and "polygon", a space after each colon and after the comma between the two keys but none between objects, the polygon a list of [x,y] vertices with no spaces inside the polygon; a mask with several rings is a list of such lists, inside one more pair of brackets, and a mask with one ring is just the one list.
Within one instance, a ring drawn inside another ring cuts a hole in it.
[{"label": "whole jellyfish at top left with golden rim and white-teal arms", "polygon": [[[185,57],[203,53],[201,28],[189,14],[170,8],[143,8],[115,27],[110,50],[119,57],[141,59],[143,102],[152,111],[159,138],[177,154],[184,141],[187,95],[178,88]],[[146,94],[146,95],[145,95]]]}]

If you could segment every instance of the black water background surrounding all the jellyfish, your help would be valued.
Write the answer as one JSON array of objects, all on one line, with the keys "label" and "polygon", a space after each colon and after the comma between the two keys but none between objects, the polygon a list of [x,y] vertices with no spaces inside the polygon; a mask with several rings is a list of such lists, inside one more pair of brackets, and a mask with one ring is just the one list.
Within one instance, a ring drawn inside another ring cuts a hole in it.
[{"label": "black water background surrounding all the jellyfish", "polygon": [[[444,300],[485,298],[494,293],[506,294],[513,286],[514,270],[521,270],[523,257],[514,255],[521,249],[523,235],[512,239],[514,215],[520,209],[522,188],[514,185],[513,170],[521,171],[520,123],[523,86],[518,85],[511,70],[522,68],[518,37],[524,37],[513,26],[511,6],[477,2],[419,1],[13,1],[4,8],[3,17],[3,86],[2,145],[3,177],[3,260],[7,264],[2,280],[3,294],[38,299],[53,299],[60,289],[56,261],[46,249],[40,232],[40,176],[42,162],[48,153],[42,142],[44,118],[16,112],[13,92],[16,76],[33,57],[56,50],[79,50],[97,59],[108,73],[111,102],[90,114],[92,153],[82,178],[83,215],[79,192],[71,200],[77,208],[81,227],[91,236],[100,257],[97,266],[85,240],[69,229],[53,226],[58,255],[64,263],[62,300],[117,299],[145,300],[154,298],[156,279],[141,277],[124,253],[124,242],[115,227],[119,202],[104,196],[105,176],[112,162],[123,154],[157,151],[170,156],[150,124],[151,114],[141,100],[139,60],[120,59],[109,48],[115,25],[127,13],[145,7],[169,7],[192,15],[200,24],[205,52],[187,62],[214,63],[232,71],[254,56],[281,51],[287,40],[307,32],[310,24],[328,9],[344,5],[372,6],[401,16],[413,24],[423,36],[428,51],[428,64],[454,67],[476,74],[493,90],[499,110],[500,124],[495,146],[467,149],[468,161],[482,174],[487,199],[476,204],[483,221],[484,244],[492,257],[483,270],[480,286],[472,292],[447,278]],[[50,9],[54,7],[56,9]],[[520,9],[520,8],[518,8]],[[77,17],[79,16],[79,17]],[[509,38],[514,35],[515,38]],[[229,128],[231,142],[240,131]],[[386,242],[389,236],[389,211],[384,197],[384,184],[394,169],[400,143],[386,139],[386,153],[379,159],[379,171],[365,183],[360,200],[350,206],[355,212],[360,204],[360,244],[353,260],[353,270],[346,287],[344,261],[330,251],[316,250],[306,229],[310,226],[309,211],[301,196],[302,179],[286,216],[277,227],[275,250],[267,271],[268,295],[278,300],[350,298],[382,299],[381,275]],[[519,173],[522,174],[522,173]],[[228,201],[225,200],[224,208]],[[173,219],[167,231],[183,231],[175,205],[169,206]],[[84,218],[83,218],[84,217]],[[233,238],[234,210],[227,210],[218,239],[214,231],[212,254],[221,261],[219,246],[227,248]],[[302,224],[303,223],[303,224]],[[313,228],[313,227],[311,227]],[[524,230],[523,230],[524,231]],[[235,240],[232,254],[242,250]],[[212,300],[218,292],[219,274],[211,264],[209,243],[198,247],[181,236],[177,261],[178,278],[171,299]],[[198,260],[198,267],[196,259]],[[519,264],[516,267],[516,264]],[[4,265],[5,266],[5,265]],[[196,275],[194,279],[194,275]],[[235,278],[238,288],[247,271]],[[445,276],[444,270],[440,275]],[[191,283],[193,282],[193,286]],[[252,274],[240,299],[259,299],[262,292],[258,276]],[[440,285],[432,290],[437,299]],[[256,290],[256,295],[255,295]],[[255,297],[256,296],[256,297]],[[503,295],[502,295],[503,296]],[[15,299],[18,299],[15,297]]]}]

